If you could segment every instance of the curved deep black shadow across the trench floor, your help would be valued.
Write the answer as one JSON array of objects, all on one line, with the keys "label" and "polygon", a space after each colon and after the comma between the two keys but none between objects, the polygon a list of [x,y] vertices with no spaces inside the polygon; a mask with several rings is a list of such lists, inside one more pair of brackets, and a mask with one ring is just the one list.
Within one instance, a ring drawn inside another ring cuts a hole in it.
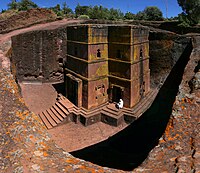
[{"label": "curved deep black shadow across the trench floor", "polygon": [[166,129],[191,51],[190,43],[173,67],[152,106],[141,118],[106,141],[71,154],[100,166],[125,171],[139,166],[158,144]]}]

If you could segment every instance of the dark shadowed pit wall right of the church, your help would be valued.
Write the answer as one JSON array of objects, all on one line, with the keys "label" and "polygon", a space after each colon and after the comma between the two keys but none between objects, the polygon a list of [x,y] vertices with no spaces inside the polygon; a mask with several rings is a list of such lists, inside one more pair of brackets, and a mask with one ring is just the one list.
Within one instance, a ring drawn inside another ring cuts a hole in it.
[{"label": "dark shadowed pit wall right of the church", "polygon": [[162,84],[190,43],[190,37],[152,29],[149,33],[151,87]]}]

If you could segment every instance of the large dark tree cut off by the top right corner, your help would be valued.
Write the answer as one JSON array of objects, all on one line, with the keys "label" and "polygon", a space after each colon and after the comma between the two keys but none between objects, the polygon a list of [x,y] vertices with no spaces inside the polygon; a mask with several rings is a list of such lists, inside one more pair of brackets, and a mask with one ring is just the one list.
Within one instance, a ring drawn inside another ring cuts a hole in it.
[{"label": "large dark tree cut off by the top right corner", "polygon": [[200,22],[200,0],[177,0],[182,8],[182,19],[186,19],[186,23],[195,25]]}]

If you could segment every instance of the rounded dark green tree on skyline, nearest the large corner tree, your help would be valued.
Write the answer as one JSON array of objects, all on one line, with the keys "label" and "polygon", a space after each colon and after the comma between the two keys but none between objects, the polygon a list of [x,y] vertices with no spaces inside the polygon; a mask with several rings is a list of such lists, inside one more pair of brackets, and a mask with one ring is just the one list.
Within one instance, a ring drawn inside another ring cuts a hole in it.
[{"label": "rounded dark green tree on skyline, nearest the large corner tree", "polygon": [[143,12],[146,15],[146,20],[163,20],[163,14],[156,6],[146,7]]}]

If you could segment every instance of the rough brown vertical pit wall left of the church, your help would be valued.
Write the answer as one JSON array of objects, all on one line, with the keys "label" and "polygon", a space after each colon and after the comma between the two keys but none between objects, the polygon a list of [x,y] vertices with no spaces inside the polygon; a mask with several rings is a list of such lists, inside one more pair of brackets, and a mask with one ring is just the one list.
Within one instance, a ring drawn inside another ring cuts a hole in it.
[{"label": "rough brown vertical pit wall left of the church", "polygon": [[12,37],[12,63],[19,82],[62,82],[66,29],[31,31]]}]

